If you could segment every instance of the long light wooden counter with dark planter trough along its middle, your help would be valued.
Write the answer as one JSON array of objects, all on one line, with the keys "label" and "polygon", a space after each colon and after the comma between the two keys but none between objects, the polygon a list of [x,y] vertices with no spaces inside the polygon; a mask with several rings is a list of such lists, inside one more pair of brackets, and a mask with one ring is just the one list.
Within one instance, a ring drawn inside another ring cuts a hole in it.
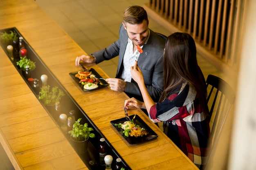
[{"label": "long light wooden counter with dark planter trough along its middle", "polygon": [[[157,133],[157,139],[130,145],[121,137],[110,121],[124,117],[128,97],[109,86],[84,92],[75,84],[69,73],[81,70],[74,60],[85,52],[34,0],[1,0],[0,29],[11,27],[18,29],[130,168],[198,169],[140,109],[128,112],[139,115]],[[0,53],[0,142],[14,168],[87,170],[2,48]],[[108,77],[97,65],[87,67]]]}]

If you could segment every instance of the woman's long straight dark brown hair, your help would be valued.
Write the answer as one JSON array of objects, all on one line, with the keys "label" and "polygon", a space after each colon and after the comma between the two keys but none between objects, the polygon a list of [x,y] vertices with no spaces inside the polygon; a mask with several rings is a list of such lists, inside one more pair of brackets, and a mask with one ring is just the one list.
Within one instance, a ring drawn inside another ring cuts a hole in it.
[{"label": "woman's long straight dark brown hair", "polygon": [[195,41],[187,33],[173,33],[168,36],[163,57],[164,91],[159,99],[162,102],[173,89],[187,83],[199,95],[204,113],[209,114],[206,97],[206,83],[196,58]]}]

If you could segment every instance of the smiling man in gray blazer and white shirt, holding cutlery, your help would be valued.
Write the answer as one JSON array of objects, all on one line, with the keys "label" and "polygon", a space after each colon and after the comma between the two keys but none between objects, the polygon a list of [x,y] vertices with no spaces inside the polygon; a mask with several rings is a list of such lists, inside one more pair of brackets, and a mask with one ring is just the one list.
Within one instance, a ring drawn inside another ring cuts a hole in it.
[{"label": "smiling man in gray blazer and white shirt, holding cutlery", "polygon": [[92,55],[76,57],[76,65],[79,65],[81,60],[87,63],[100,63],[119,55],[116,77],[106,79],[110,89],[124,91],[129,97],[143,101],[139,87],[130,75],[130,67],[137,60],[147,90],[154,102],[158,102],[164,83],[162,64],[164,46],[165,41],[148,29],[148,16],[145,9],[132,6],[124,11],[124,22],[119,29],[119,39]]}]

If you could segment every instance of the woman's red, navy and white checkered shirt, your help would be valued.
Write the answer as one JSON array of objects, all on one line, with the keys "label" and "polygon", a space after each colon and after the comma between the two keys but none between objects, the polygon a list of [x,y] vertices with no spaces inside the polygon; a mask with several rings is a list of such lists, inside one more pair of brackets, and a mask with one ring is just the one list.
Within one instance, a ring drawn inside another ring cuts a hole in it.
[{"label": "woman's red, navy and white checkered shirt", "polygon": [[166,135],[198,168],[204,164],[211,146],[209,121],[193,88],[183,83],[168,99],[150,108],[149,118],[154,122],[165,121]]}]

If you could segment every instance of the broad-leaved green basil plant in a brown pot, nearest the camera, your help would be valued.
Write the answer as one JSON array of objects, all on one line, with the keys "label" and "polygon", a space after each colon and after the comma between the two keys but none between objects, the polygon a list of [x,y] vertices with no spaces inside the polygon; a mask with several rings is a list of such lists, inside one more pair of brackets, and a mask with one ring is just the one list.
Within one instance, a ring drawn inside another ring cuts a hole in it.
[{"label": "broad-leaved green basil plant in a brown pot, nearest the camera", "polygon": [[72,130],[68,131],[76,150],[80,154],[87,151],[89,137],[95,137],[94,133],[91,132],[93,129],[89,128],[87,123],[80,124],[81,119],[82,118],[77,119],[77,121],[75,121],[75,123],[73,124]]}]

